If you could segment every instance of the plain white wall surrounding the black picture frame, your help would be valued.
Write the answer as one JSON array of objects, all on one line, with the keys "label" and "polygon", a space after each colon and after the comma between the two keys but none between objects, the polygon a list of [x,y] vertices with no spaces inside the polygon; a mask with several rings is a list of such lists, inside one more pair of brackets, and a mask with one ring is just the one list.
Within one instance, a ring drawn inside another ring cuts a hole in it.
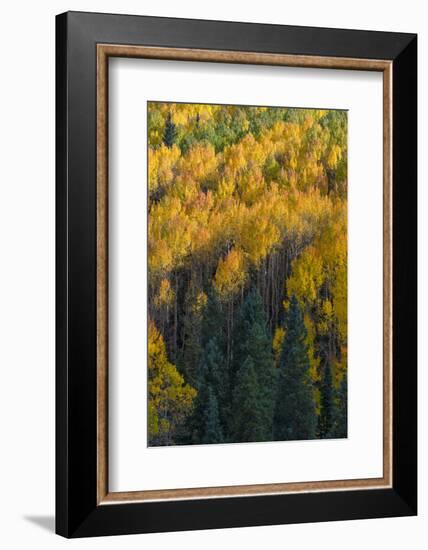
[{"label": "plain white wall surrounding the black picture frame", "polygon": [[[9,2],[0,19],[0,544],[15,548],[373,548],[425,547],[427,476],[420,470],[417,518],[258,527],[66,541],[53,534],[54,513],[54,16],[66,10],[103,11],[375,29],[419,33],[419,97],[426,78],[428,20],[424,4],[407,0],[301,0],[283,3],[216,0],[57,0]],[[422,188],[426,109],[419,105],[419,280],[425,275]],[[425,226],[425,227],[424,227]],[[424,310],[420,288],[420,465],[427,406]],[[425,391],[424,391],[425,390]]]}]

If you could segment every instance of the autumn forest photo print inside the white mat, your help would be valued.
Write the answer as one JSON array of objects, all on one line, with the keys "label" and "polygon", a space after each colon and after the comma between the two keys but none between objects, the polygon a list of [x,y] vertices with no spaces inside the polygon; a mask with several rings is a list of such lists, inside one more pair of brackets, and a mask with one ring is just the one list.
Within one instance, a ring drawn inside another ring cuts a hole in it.
[{"label": "autumn forest photo print inside the white mat", "polygon": [[150,101],[148,445],[347,437],[347,111]]}]

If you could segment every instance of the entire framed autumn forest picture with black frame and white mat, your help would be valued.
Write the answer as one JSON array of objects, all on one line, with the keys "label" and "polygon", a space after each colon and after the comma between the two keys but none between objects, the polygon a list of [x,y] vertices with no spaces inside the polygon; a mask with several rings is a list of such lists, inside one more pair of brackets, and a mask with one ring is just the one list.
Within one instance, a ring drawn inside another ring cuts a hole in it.
[{"label": "entire framed autumn forest picture with black frame and white mat", "polygon": [[57,533],[416,514],[416,35],[56,25]]}]

